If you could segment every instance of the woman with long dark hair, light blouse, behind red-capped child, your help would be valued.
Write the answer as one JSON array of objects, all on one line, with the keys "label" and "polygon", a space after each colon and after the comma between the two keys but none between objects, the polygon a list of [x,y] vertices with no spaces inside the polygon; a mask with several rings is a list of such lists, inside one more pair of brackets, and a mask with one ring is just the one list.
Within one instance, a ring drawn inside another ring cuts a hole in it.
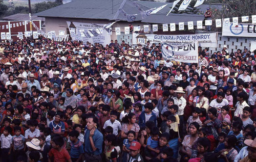
[{"label": "woman with long dark hair, light blouse, behind red-capped child", "polygon": [[127,138],[127,132],[129,132],[130,130],[135,131],[135,138],[138,138],[138,134],[139,134],[139,130],[140,127],[139,125],[136,123],[136,115],[134,113],[129,113],[126,116],[123,117],[122,119],[122,128],[121,128],[121,138]]}]

